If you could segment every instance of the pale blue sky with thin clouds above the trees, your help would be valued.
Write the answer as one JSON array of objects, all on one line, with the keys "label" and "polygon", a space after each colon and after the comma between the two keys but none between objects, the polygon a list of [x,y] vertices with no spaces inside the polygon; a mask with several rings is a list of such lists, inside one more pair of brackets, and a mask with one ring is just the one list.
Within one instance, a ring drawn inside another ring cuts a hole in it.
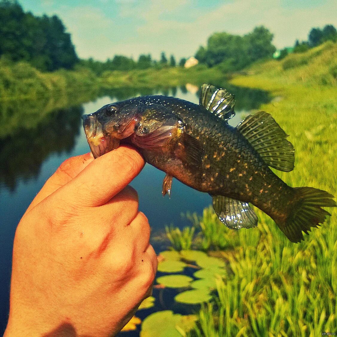
[{"label": "pale blue sky with thin clouds above the trees", "polygon": [[19,0],[35,15],[57,14],[81,58],[193,56],[214,32],[245,34],[259,25],[281,49],[312,27],[337,28],[337,0]]}]

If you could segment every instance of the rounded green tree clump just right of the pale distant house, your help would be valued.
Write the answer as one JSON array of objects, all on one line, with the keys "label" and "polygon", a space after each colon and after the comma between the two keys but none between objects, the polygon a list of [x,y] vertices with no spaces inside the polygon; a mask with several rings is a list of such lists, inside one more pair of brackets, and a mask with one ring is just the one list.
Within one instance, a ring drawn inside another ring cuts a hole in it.
[{"label": "rounded green tree clump just right of the pale distant house", "polygon": [[273,34],[264,26],[255,27],[244,36],[214,33],[208,38],[207,47],[197,50],[195,58],[210,67],[219,64],[223,72],[237,71],[256,60],[272,57],[276,50],[272,40]]}]

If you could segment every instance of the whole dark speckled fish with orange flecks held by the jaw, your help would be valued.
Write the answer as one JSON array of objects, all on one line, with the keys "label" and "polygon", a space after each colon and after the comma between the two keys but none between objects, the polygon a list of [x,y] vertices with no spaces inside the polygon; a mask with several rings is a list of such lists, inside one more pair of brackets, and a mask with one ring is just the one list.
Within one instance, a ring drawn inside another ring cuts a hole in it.
[{"label": "whole dark speckled fish with orange flecks held by the jaw", "polygon": [[162,194],[172,180],[209,193],[220,221],[232,229],[257,226],[251,205],[269,215],[291,242],[303,240],[336,207],[334,196],[313,187],[291,187],[272,170],[294,169],[295,150],[287,134],[265,111],[236,127],[234,95],[203,84],[199,104],[161,95],[104,105],[83,116],[95,158],[133,146],[145,161],[166,173]]}]

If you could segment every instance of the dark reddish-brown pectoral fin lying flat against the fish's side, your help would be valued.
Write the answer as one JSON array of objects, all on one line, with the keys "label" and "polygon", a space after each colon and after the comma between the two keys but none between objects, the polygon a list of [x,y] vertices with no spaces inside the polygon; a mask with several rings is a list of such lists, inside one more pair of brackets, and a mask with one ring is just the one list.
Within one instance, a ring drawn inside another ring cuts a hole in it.
[{"label": "dark reddish-brown pectoral fin lying flat against the fish's side", "polygon": [[180,142],[175,150],[175,154],[177,158],[182,160],[182,162],[201,167],[204,155],[204,146],[199,140],[183,130]]}]

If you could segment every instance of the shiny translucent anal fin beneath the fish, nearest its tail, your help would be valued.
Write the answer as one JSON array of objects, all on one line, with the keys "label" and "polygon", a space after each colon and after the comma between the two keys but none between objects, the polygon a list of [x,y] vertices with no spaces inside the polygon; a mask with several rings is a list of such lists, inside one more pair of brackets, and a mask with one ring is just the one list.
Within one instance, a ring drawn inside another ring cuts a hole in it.
[{"label": "shiny translucent anal fin beneath the fish, nearest its tail", "polygon": [[213,195],[213,208],[220,221],[228,228],[257,226],[257,215],[248,203],[222,195]]}]

